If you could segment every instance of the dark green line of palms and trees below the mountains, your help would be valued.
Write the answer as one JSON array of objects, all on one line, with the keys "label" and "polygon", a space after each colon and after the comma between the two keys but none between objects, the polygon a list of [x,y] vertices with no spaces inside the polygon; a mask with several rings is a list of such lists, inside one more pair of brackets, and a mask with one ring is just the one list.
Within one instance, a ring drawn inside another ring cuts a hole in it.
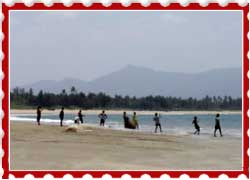
[{"label": "dark green line of palms and trees below the mountains", "polygon": [[72,87],[69,92],[48,93],[42,90],[34,94],[32,89],[14,88],[10,92],[11,108],[82,108],[82,109],[135,109],[135,110],[241,110],[242,99],[231,96],[205,96],[201,99],[165,96],[110,96],[105,93],[78,92]]}]

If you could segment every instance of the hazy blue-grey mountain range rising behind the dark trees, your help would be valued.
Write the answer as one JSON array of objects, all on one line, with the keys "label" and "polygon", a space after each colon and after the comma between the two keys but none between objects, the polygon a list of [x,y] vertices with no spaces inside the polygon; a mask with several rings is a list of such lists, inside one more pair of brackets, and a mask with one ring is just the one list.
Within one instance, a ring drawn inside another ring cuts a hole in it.
[{"label": "hazy blue-grey mountain range rising behind the dark trees", "polygon": [[149,68],[128,65],[123,69],[90,82],[67,78],[62,81],[39,81],[23,86],[34,92],[43,90],[59,93],[75,86],[78,91],[105,92],[109,95],[175,97],[242,96],[241,68],[214,69],[201,73],[175,73],[154,71]]}]

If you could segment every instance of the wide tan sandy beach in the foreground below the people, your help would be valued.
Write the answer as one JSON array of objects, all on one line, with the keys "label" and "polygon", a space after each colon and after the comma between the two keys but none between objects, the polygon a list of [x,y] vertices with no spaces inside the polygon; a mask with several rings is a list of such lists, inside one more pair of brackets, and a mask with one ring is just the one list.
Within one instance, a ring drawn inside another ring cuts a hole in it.
[{"label": "wide tan sandy beach in the foreground below the people", "polygon": [[[12,111],[13,112],[13,111]],[[13,170],[241,169],[241,138],[10,123]]]}]

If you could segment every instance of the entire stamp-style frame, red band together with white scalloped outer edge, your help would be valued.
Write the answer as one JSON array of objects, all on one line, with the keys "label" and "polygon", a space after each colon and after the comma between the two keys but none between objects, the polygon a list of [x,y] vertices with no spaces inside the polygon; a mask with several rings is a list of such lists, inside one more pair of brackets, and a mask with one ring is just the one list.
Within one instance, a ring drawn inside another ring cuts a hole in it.
[{"label": "entire stamp-style frame, red band together with white scalloped outer edge", "polygon": [[[0,41],[2,41],[2,52],[0,59],[2,60],[2,111],[0,118],[2,119],[2,173],[3,179],[15,178],[65,178],[72,176],[74,178],[249,178],[249,4],[248,0],[239,0],[237,3],[231,3],[229,0],[220,0],[216,3],[211,3],[211,0],[200,0],[192,2],[190,0],[182,0],[174,2],[172,0],[157,0],[152,2],[150,0],[141,0],[137,3],[132,3],[130,0],[121,0],[118,3],[112,0],[100,0],[93,2],[92,0],[63,0],[60,3],[54,3],[53,0],[44,0],[43,3],[36,0],[26,0],[25,2],[15,2],[15,0],[3,0],[1,3],[2,13],[0,19],[2,22],[2,33],[0,34]],[[243,13],[243,168],[242,170],[195,170],[195,171],[15,171],[9,169],[9,11],[11,10],[240,10]],[[5,115],[4,115],[5,114]]]}]

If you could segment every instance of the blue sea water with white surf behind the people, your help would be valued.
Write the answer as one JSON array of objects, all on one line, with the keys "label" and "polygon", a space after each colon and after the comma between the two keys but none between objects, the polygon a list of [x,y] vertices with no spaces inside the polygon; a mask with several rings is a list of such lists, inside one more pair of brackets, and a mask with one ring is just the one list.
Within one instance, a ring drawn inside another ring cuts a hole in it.
[{"label": "blue sea water with white surf behind the people", "polygon": [[[195,114],[176,114],[176,115],[161,115],[160,122],[162,125],[163,133],[165,134],[176,134],[176,135],[187,135],[192,134],[195,129],[192,125],[193,117],[197,116],[200,126],[201,136],[212,136],[214,131],[215,115],[195,115]],[[75,114],[65,114],[64,124],[73,124]],[[129,115],[130,119],[132,115]],[[139,130],[131,131],[143,131],[143,132],[154,132],[154,121],[152,115],[138,115]],[[11,115],[12,121],[36,121],[35,115],[24,114],[24,115]],[[52,123],[59,125],[58,115],[42,115],[41,123]],[[91,126],[99,126],[99,118],[97,115],[86,115],[84,117],[84,123]],[[220,117],[222,133],[226,136],[242,137],[242,115],[241,114],[221,114]],[[106,128],[124,129],[124,123],[122,115],[109,115],[105,123]],[[159,131],[159,130],[158,130]],[[217,132],[219,133],[219,132]],[[219,135],[219,134],[218,134]]]}]

